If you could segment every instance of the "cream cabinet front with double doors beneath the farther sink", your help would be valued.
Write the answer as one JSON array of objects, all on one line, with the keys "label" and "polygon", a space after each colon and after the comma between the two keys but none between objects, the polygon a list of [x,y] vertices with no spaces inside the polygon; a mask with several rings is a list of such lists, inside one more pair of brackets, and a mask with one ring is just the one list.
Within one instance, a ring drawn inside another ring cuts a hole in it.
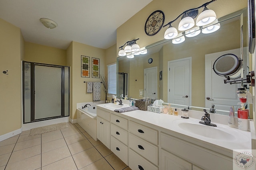
[{"label": "cream cabinet front with double doors beneath the farther sink", "polygon": [[98,108],[97,138],[110,149],[110,112]]}]

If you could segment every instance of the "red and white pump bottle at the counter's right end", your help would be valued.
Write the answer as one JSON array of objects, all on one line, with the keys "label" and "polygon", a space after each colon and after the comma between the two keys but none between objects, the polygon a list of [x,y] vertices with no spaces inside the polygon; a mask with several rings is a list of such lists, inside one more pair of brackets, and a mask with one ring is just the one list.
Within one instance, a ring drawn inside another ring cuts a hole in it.
[{"label": "red and white pump bottle at the counter's right end", "polygon": [[248,131],[248,111],[244,109],[244,104],[241,103],[241,109],[237,111],[238,129]]}]

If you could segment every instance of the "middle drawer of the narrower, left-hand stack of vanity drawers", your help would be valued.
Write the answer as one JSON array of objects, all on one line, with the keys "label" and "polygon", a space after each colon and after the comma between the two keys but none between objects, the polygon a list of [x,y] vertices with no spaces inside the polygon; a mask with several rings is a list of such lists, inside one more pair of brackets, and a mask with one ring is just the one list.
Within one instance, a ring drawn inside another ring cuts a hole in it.
[{"label": "middle drawer of the narrower, left-hand stack of vanity drawers", "polygon": [[111,123],[110,134],[125,145],[128,145],[128,131]]}]

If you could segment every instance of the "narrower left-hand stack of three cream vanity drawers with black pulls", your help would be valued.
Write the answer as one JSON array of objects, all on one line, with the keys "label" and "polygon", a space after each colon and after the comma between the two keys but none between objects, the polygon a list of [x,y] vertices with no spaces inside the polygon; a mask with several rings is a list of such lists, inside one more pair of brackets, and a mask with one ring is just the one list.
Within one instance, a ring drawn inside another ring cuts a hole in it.
[{"label": "narrower left-hand stack of three cream vanity drawers with black pulls", "polygon": [[110,115],[110,150],[128,164],[128,119]]}]

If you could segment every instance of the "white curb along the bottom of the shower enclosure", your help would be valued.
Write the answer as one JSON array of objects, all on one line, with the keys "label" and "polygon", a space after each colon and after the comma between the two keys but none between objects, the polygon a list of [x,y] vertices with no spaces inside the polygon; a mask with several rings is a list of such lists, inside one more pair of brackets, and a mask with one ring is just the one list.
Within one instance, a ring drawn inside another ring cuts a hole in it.
[{"label": "white curb along the bottom of the shower enclosure", "polygon": [[45,120],[45,121],[37,121],[33,123],[25,123],[22,124],[23,131],[27,131],[36,127],[42,127],[42,126],[47,126],[47,125],[53,125],[56,123],[63,123],[63,122],[69,122],[70,117],[62,117],[58,119],[50,119],[50,120]]}]

